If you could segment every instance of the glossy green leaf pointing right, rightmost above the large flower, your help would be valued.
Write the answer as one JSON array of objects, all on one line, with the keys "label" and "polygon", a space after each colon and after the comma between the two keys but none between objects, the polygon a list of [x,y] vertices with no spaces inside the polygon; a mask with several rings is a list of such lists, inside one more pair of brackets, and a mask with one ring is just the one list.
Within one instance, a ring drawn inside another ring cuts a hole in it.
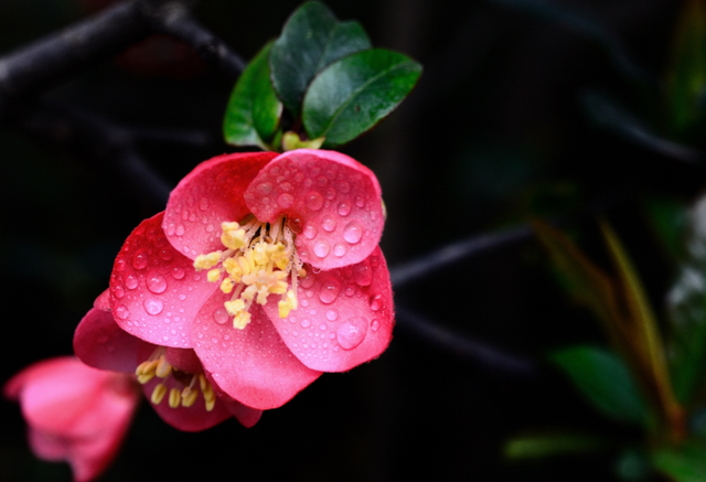
[{"label": "glossy green leaf pointing right, rightmost above the large flower", "polygon": [[420,75],[417,62],[382,49],[334,62],[304,96],[302,118],[309,138],[325,137],[327,147],[356,138],[392,113]]}]

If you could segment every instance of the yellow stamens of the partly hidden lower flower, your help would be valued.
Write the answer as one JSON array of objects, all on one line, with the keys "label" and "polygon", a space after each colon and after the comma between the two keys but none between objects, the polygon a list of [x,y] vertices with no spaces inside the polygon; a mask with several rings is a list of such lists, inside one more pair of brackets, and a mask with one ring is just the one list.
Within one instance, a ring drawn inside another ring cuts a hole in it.
[{"label": "yellow stamens of the partly hidden lower flower", "polygon": [[[168,390],[165,382],[170,376],[184,387],[181,390],[174,387],[169,390],[168,403],[171,408],[176,408],[180,405],[188,408],[194,405],[196,398],[199,398],[199,388],[201,388],[201,393],[203,394],[203,399],[206,404],[206,411],[213,410],[216,403],[216,395],[205,375],[203,373],[191,374],[174,368],[169,364],[169,362],[167,362],[163,346],[154,350],[146,362],[140,363],[135,371],[135,374],[137,375],[137,381],[142,385],[156,376],[164,381],[159,383],[154,389],[152,389],[150,400],[154,405],[161,404],[164,399]],[[199,382],[199,386],[196,386],[196,382]]]}]

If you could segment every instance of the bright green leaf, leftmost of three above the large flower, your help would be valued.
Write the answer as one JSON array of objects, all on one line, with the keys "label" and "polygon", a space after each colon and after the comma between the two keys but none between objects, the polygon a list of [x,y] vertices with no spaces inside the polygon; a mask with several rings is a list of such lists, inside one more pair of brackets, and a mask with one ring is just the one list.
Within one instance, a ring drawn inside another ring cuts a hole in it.
[{"label": "bright green leaf, leftmost of three above the large flower", "polygon": [[282,104],[272,89],[267,56],[269,42],[253,58],[231,94],[223,120],[225,141],[234,146],[259,146],[267,150],[279,126]]}]

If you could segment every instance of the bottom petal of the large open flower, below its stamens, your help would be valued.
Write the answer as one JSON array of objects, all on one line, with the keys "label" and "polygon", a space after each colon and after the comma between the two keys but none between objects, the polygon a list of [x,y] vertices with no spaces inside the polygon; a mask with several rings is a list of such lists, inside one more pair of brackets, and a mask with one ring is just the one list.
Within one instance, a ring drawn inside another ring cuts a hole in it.
[{"label": "bottom petal of the large open flower, below its stamens", "polygon": [[259,304],[250,308],[252,321],[244,330],[233,328],[223,317],[229,298],[218,290],[203,306],[193,326],[194,350],[227,395],[260,410],[280,407],[321,373],[291,354]]}]

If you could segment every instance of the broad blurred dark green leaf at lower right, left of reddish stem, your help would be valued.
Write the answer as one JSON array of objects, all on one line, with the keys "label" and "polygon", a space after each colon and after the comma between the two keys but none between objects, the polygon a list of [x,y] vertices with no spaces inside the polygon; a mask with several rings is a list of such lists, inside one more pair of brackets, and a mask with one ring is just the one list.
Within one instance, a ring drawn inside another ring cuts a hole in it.
[{"label": "broad blurred dark green leaf at lower right, left of reddish stem", "polygon": [[549,355],[574,384],[603,414],[631,422],[645,422],[648,410],[622,360],[595,346],[576,346]]}]

